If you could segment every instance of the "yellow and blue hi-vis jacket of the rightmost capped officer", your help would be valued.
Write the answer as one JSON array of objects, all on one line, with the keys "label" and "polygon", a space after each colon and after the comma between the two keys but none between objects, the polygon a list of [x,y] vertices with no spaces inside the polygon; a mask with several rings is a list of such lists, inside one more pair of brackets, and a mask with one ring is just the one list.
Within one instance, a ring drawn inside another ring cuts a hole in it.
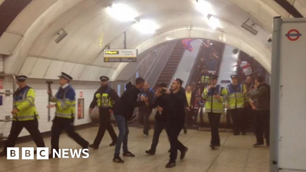
[{"label": "yellow and blue hi-vis jacket of the rightmost capped officer", "polygon": [[245,96],[247,93],[247,88],[243,84],[229,84],[227,87],[227,103],[229,105],[228,109],[244,108]]}]

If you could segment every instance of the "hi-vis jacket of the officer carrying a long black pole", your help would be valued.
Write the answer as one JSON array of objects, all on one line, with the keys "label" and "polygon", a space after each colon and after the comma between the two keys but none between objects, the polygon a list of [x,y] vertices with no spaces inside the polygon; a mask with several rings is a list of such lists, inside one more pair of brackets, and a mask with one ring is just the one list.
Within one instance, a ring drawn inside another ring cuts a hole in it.
[{"label": "hi-vis jacket of the officer carrying a long black pole", "polygon": [[75,116],[75,91],[71,85],[66,88],[60,87],[50,101],[56,103],[55,115],[59,118],[74,118]]}]

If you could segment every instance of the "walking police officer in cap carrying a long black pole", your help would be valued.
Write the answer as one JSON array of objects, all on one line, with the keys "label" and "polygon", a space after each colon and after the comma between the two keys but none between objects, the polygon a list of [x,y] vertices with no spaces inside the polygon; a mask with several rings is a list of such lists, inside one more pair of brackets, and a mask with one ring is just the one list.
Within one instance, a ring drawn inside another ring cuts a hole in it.
[{"label": "walking police officer in cap carrying a long black pole", "polygon": [[53,151],[59,151],[58,142],[59,135],[62,130],[65,130],[69,137],[75,140],[83,149],[88,149],[88,141],[84,140],[79,134],[74,131],[73,122],[75,117],[75,91],[69,84],[73,78],[68,74],[62,72],[59,76],[58,92],[55,96],[52,95],[52,91],[48,90],[50,95],[50,101],[55,104],[50,104],[47,108],[56,108],[55,117],[51,127],[51,153],[50,158],[53,157]]}]

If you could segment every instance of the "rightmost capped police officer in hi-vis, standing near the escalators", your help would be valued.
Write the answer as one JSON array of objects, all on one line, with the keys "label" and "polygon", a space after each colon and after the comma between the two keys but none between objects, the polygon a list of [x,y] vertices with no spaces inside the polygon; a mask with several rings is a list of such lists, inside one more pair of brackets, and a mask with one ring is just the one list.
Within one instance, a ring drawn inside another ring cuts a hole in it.
[{"label": "rightmost capped police officer in hi-vis, standing near the escalators", "polygon": [[243,84],[238,84],[237,78],[237,75],[232,75],[232,83],[226,87],[228,92],[226,107],[232,116],[234,135],[239,135],[239,131],[241,131],[242,135],[245,135],[244,101],[247,88]]}]

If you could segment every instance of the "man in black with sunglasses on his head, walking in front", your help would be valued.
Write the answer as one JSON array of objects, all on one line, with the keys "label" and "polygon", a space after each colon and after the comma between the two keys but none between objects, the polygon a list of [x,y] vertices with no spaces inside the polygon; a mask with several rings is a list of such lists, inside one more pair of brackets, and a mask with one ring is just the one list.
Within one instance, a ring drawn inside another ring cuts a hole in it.
[{"label": "man in black with sunglasses on his head, walking in front", "polygon": [[182,83],[181,79],[175,78],[171,83],[171,91],[166,89],[165,92],[169,94],[166,104],[168,112],[167,130],[171,146],[170,161],[167,163],[166,168],[176,166],[177,150],[181,151],[181,159],[185,158],[188,150],[187,147],[177,140],[185,124],[185,109],[188,108],[185,89],[181,87]]}]

